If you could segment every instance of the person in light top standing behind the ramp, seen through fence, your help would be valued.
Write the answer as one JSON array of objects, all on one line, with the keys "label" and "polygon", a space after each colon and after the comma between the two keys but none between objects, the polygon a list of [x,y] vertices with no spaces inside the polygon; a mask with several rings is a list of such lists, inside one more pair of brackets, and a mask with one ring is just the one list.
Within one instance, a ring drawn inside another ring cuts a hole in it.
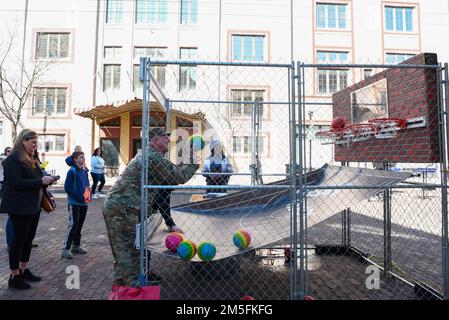
[{"label": "person in light top standing behind the ramp, seen through fence", "polygon": [[[210,173],[232,173],[232,165],[225,156],[222,145],[218,140],[210,143],[210,156],[204,160],[202,174],[208,186],[224,186],[230,179],[229,174],[219,175]],[[224,189],[208,189],[206,193],[226,193]]]}]

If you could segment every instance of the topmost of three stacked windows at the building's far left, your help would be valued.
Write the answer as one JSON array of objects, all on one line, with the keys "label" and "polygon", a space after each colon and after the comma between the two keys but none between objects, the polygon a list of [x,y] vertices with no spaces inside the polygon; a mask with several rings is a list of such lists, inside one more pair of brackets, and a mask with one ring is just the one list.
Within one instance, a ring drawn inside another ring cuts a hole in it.
[{"label": "topmost of three stacked windows at the building's far left", "polygon": [[36,59],[64,59],[69,57],[70,33],[37,33]]}]

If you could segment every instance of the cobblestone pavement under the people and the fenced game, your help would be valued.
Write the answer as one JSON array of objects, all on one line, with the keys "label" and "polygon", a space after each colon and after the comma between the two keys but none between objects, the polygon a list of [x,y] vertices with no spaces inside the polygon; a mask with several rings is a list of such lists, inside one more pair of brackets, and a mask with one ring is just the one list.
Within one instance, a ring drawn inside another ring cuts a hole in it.
[{"label": "cobblestone pavement under the people and the fenced game", "polygon": [[[173,198],[172,201],[183,202],[188,197]],[[107,299],[112,281],[113,259],[101,215],[102,200],[91,202],[83,228],[82,243],[89,252],[77,255],[73,260],[60,258],[67,227],[64,194],[57,194],[57,203],[58,208],[54,213],[41,215],[35,239],[38,247],[33,249],[30,268],[35,274],[42,276],[43,281],[32,284],[31,290],[13,291],[7,288],[9,267],[4,232],[7,216],[0,215],[0,299]],[[354,240],[361,241],[363,238],[367,244],[377,243],[381,247],[382,238],[378,238],[378,233],[372,232],[370,235],[369,232],[360,231],[371,230],[366,228],[381,224],[381,220],[361,217],[356,220],[355,226],[359,229],[354,229]],[[335,215],[316,225],[309,233],[311,243],[313,239],[317,243],[341,240],[338,228],[332,229],[338,223],[339,215]],[[329,230],[333,230],[333,233],[329,234]],[[405,232],[405,229],[399,231]],[[409,229],[407,231],[413,235]],[[431,259],[433,249],[429,253],[426,244],[436,241],[435,237],[421,232],[419,237],[404,238],[402,245],[413,248],[412,255],[427,257],[414,262],[414,259],[407,256],[409,260],[405,262],[410,263],[410,269],[415,269],[413,263],[427,263],[428,269],[432,267],[428,264],[431,260],[427,259]],[[395,238],[394,248],[401,246],[399,239],[400,237]],[[287,244],[288,241],[283,242],[280,247]],[[433,245],[435,250],[438,249],[437,244],[438,241]],[[66,288],[66,279],[70,275],[66,273],[66,268],[70,265],[75,265],[80,270],[79,290]],[[310,250],[308,266],[310,294],[317,299],[416,298],[412,287],[394,278],[381,277],[380,289],[368,290],[365,285],[368,265],[355,257],[316,255],[314,250]],[[282,249],[261,249],[224,262],[211,262],[208,269],[201,264],[153,255],[151,269],[163,278],[162,299],[240,299],[244,295],[252,295],[256,299],[288,299],[290,296],[290,270],[288,264],[284,263]]]}]

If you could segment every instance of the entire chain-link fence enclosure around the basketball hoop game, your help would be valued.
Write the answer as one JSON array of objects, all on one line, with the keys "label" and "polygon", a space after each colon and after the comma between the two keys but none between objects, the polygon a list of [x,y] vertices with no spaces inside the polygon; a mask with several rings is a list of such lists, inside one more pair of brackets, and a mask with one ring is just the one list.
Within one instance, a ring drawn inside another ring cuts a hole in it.
[{"label": "entire chain-link fence enclosure around the basketball hoop game", "polygon": [[[162,299],[447,298],[442,69],[193,60],[144,59],[134,77],[141,273]],[[374,118],[418,120],[350,126]],[[155,127],[177,169],[151,161]]]}]

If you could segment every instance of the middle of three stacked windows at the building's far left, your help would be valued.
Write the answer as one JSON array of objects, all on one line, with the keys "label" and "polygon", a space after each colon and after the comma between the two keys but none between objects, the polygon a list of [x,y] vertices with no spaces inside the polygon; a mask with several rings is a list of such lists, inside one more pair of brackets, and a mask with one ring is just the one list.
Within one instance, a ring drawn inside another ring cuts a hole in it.
[{"label": "middle of three stacked windows at the building's far left", "polygon": [[67,88],[34,88],[33,116],[66,114]]}]

